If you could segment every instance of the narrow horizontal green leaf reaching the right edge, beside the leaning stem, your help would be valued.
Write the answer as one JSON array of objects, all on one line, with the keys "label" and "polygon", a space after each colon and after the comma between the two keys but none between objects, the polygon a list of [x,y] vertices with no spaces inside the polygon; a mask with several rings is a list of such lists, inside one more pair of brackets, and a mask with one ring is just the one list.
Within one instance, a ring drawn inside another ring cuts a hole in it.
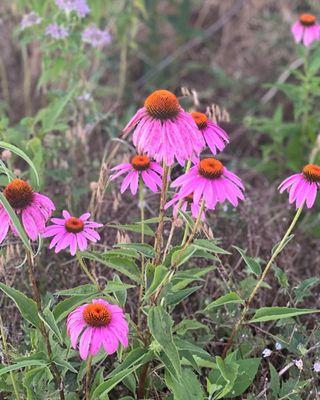
[{"label": "narrow horizontal green leaf reaching the right edge, beside the leaning stem", "polygon": [[276,321],[282,318],[292,318],[299,315],[316,314],[320,310],[307,308],[289,308],[289,307],[262,307],[253,316],[250,323]]}]

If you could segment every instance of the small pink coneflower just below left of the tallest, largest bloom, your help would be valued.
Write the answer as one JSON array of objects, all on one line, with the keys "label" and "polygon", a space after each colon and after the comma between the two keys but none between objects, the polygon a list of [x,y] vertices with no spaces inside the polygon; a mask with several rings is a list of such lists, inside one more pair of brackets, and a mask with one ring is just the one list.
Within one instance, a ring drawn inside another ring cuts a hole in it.
[{"label": "small pink coneflower just below left of the tallest, largest bloom", "polygon": [[112,168],[111,171],[118,172],[112,175],[110,180],[114,180],[118,176],[127,173],[127,176],[124,178],[121,185],[121,193],[123,193],[130,185],[131,193],[135,195],[138,191],[139,176],[141,176],[143,182],[153,192],[157,192],[158,187],[161,188],[162,186],[162,167],[144,155],[135,155],[131,158],[130,163],[119,164]]}]

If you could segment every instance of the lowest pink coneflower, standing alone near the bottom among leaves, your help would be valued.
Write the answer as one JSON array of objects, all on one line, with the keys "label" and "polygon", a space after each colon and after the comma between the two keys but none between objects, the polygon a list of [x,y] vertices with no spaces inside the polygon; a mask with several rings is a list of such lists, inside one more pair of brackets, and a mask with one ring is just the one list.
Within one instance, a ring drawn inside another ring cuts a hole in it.
[{"label": "lowest pink coneflower, standing alone near the bottom among leaves", "polygon": [[79,352],[83,360],[89,354],[96,355],[100,348],[113,354],[119,342],[128,346],[129,327],[123,310],[103,299],[92,300],[72,311],[67,319],[67,333],[74,349],[81,335]]}]

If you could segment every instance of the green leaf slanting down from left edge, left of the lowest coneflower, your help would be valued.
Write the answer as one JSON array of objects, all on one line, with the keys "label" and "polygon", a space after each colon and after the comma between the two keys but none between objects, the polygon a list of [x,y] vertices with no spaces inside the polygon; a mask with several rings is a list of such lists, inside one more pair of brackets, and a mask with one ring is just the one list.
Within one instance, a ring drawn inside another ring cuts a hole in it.
[{"label": "green leaf slanting down from left edge, left of the lowest coneflower", "polygon": [[36,302],[25,294],[19,292],[19,290],[11,288],[4,283],[0,283],[0,289],[15,302],[23,318],[29,321],[36,328],[39,328],[41,320],[38,315]]}]

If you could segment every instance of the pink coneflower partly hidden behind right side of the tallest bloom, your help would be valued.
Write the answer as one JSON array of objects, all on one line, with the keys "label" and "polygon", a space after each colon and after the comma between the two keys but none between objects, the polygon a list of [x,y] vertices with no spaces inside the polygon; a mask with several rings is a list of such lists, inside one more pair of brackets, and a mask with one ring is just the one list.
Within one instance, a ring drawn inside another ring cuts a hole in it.
[{"label": "pink coneflower partly hidden behind right side of the tallest bloom", "polygon": [[222,151],[226,144],[229,143],[227,133],[211,121],[206,114],[196,111],[192,112],[191,116],[212,154],[215,155],[218,151]]}]

